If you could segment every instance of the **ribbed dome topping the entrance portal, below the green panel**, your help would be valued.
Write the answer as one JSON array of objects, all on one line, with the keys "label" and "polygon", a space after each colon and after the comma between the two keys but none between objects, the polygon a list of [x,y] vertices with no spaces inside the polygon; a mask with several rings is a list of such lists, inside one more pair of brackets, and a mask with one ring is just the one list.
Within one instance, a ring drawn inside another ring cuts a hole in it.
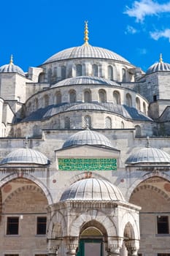
[{"label": "ribbed dome topping the entrance portal, below the green panel", "polygon": [[99,178],[85,178],[76,181],[61,195],[64,200],[121,200],[125,201],[120,189],[109,181]]}]

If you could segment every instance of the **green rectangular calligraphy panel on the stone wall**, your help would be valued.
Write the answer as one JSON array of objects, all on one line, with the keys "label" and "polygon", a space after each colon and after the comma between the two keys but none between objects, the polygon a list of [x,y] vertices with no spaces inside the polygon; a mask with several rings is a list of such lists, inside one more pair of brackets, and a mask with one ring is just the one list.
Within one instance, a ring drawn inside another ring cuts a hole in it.
[{"label": "green rectangular calligraphy panel on the stone wall", "polygon": [[59,170],[117,170],[115,158],[59,158]]}]

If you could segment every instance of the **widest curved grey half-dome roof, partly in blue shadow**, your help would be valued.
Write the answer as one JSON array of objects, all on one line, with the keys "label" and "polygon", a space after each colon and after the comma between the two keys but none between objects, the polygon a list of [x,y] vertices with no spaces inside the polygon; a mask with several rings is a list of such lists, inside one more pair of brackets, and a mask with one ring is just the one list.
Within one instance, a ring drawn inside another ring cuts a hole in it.
[{"label": "widest curved grey half-dome roof, partly in blue shadow", "polygon": [[90,103],[90,102],[74,102],[74,103],[62,103],[61,105],[49,105],[46,108],[39,108],[35,112],[32,112],[30,116],[23,118],[23,121],[36,121],[46,118],[50,118],[58,113],[63,113],[72,110],[102,110],[110,113],[115,113],[125,118],[142,121],[152,121],[152,119],[146,116],[144,113],[139,112],[136,108],[130,108],[125,105],[116,105],[113,102],[105,103]]}]

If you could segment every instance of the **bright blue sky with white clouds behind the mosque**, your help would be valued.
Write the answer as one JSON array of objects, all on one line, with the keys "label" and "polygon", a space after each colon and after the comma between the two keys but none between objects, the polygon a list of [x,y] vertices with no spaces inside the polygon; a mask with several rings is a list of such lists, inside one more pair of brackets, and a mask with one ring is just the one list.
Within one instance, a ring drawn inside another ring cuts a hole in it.
[{"label": "bright blue sky with white clouds behind the mosque", "polygon": [[144,71],[159,60],[170,63],[170,1],[8,0],[1,1],[0,66],[25,72],[65,48],[89,43],[107,48]]}]

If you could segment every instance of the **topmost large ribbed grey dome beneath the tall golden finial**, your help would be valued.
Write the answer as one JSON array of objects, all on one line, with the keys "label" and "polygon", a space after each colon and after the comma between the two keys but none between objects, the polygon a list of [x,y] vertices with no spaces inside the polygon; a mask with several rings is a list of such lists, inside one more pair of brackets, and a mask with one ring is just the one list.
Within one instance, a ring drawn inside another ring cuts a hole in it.
[{"label": "topmost large ribbed grey dome beneath the tall golden finial", "polygon": [[61,50],[59,53],[55,53],[44,64],[60,61],[64,59],[77,59],[77,58],[95,58],[95,59],[112,59],[115,61],[123,61],[129,63],[122,56],[104,48],[95,47],[92,45],[81,45],[66,50]]}]

